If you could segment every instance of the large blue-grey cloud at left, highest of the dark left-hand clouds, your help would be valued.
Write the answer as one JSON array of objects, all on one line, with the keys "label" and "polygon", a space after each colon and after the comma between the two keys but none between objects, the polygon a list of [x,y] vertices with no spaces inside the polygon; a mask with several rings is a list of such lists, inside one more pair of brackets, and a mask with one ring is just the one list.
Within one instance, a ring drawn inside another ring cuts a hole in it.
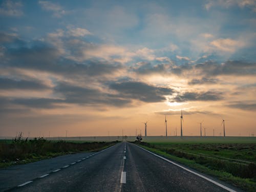
[{"label": "large blue-grey cloud at left, highest of the dark left-hand clouds", "polygon": [[109,63],[99,60],[74,62],[63,58],[58,49],[47,46],[9,49],[6,57],[9,59],[6,66],[9,67],[47,71],[73,77],[77,75],[102,76],[123,69],[118,62]]}]

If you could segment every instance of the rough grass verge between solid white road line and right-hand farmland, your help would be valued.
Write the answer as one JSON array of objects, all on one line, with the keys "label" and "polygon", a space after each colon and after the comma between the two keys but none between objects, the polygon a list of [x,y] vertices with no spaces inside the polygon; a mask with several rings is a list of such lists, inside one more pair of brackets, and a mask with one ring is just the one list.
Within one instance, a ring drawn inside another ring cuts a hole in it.
[{"label": "rough grass verge between solid white road line and right-hand farmland", "polygon": [[[159,149],[156,148],[152,148],[150,146],[145,146],[145,144],[143,142],[141,143],[136,143],[139,144],[141,147],[145,148],[148,151],[151,151],[153,153],[156,153],[158,155],[161,155],[163,157],[166,157],[170,160],[176,161],[178,163],[181,163],[183,165],[186,165],[190,168],[194,168],[196,170],[198,170],[201,173],[213,176],[215,178],[218,178],[219,180],[225,181],[233,186],[236,186],[238,188],[241,188],[245,191],[249,191],[249,192],[253,192],[256,191],[256,180],[255,178],[240,178],[240,177],[236,177],[233,176],[230,173],[227,172],[223,172],[221,170],[216,170],[216,169],[211,169],[207,166],[198,164],[195,160],[189,160],[186,158],[181,158],[181,157],[177,157],[174,155],[170,155],[164,151],[160,151]],[[148,145],[148,143],[146,143],[146,145]]]}]

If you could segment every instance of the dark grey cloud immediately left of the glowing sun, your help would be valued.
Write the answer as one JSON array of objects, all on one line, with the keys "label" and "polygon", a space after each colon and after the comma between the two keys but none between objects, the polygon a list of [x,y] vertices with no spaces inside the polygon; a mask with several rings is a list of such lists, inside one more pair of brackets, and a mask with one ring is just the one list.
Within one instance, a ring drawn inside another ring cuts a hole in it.
[{"label": "dark grey cloud immediately left of the glowing sun", "polygon": [[119,92],[121,97],[137,99],[144,102],[160,102],[165,100],[164,95],[172,95],[170,88],[155,87],[143,82],[118,82],[110,84],[110,89]]}]

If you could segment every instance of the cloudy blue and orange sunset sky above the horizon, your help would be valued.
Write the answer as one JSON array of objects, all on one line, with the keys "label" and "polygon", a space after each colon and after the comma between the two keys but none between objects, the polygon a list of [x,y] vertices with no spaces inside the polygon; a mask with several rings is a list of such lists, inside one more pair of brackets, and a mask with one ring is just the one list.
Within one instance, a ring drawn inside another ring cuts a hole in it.
[{"label": "cloudy blue and orange sunset sky above the horizon", "polygon": [[0,137],[256,134],[256,1],[0,1]]}]

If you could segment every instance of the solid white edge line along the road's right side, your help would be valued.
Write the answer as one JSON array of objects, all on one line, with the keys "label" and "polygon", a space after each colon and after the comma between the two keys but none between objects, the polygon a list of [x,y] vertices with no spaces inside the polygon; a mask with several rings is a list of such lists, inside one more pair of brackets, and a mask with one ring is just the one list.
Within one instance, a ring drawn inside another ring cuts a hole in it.
[{"label": "solid white edge line along the road's right side", "polygon": [[[136,146],[137,146],[137,147],[140,147],[140,146],[138,146],[138,145],[136,145]],[[173,161],[170,161],[170,160],[168,160],[168,159],[166,159],[166,158],[164,158],[164,157],[162,157],[162,156],[160,156],[160,155],[157,155],[157,154],[155,154],[155,153],[153,153],[153,152],[150,152],[150,151],[148,151],[148,150],[145,150],[145,149],[142,148],[142,147],[140,147],[140,148],[141,148],[142,150],[148,152],[148,153],[151,153],[151,154],[154,155],[154,156],[157,156],[157,157],[159,157],[159,158],[161,158],[161,159],[163,159],[163,160],[165,160],[165,161],[167,161],[167,162],[169,162],[169,163],[172,163],[172,164],[174,164],[174,165],[176,165],[176,166],[178,166],[178,167],[180,167],[180,168],[186,170],[187,172],[190,172],[190,173],[192,173],[192,174],[195,174],[195,175],[197,175],[197,176],[199,176],[199,177],[201,177],[201,178],[203,178],[203,179],[205,179],[205,180],[207,180],[207,181],[209,181],[209,182],[211,182],[211,183],[214,183],[214,184],[218,185],[218,186],[221,187],[221,188],[224,188],[224,189],[226,189],[226,190],[228,190],[228,191],[230,191],[230,192],[236,192],[236,190],[233,190],[233,189],[231,189],[231,188],[229,188],[229,187],[227,187],[227,186],[225,186],[225,185],[222,185],[222,184],[220,184],[220,183],[218,183],[218,182],[216,182],[216,181],[214,181],[214,180],[212,180],[212,179],[210,179],[210,178],[208,178],[208,177],[205,177],[205,176],[203,176],[203,175],[201,175],[201,174],[198,174],[198,173],[196,173],[196,172],[193,172],[193,170],[190,170],[190,169],[188,169],[188,168],[186,168],[186,167],[183,167],[183,166],[181,166],[181,165],[179,165],[179,164],[177,164],[177,163],[175,163],[175,162],[173,162]]]}]

